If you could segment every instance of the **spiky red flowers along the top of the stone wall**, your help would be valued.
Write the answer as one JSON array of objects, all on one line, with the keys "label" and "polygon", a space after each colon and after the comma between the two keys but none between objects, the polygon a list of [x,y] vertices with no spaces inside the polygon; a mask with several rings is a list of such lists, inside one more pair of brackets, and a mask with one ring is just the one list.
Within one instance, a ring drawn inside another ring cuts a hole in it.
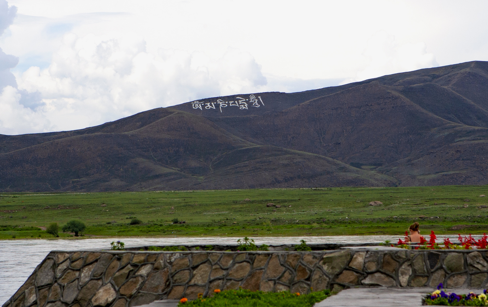
[{"label": "spiky red flowers along the top of the stone wall", "polygon": [[[405,241],[402,239],[398,239],[398,243],[396,247],[410,249],[410,245],[408,245],[407,241],[408,232],[405,231]],[[471,234],[469,237],[464,236],[464,238],[459,234],[458,241],[459,244],[454,244],[449,241],[448,238],[444,239],[444,247],[440,246],[438,243],[435,242],[434,230],[430,231],[430,239],[427,241],[424,237],[420,237],[420,243],[414,247],[414,249],[487,249],[488,247],[488,236],[486,233],[483,233],[483,237],[479,240],[475,240]],[[394,246],[393,244],[391,246]]]}]

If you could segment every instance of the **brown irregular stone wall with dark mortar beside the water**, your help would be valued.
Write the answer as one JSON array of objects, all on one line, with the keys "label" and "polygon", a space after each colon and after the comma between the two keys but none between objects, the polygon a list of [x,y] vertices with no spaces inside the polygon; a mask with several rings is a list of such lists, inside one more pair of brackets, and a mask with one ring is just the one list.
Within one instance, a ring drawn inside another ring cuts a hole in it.
[{"label": "brown irregular stone wall with dark mortar beside the water", "polygon": [[53,251],[3,307],[131,307],[239,287],[307,293],[354,285],[481,288],[486,250]]}]

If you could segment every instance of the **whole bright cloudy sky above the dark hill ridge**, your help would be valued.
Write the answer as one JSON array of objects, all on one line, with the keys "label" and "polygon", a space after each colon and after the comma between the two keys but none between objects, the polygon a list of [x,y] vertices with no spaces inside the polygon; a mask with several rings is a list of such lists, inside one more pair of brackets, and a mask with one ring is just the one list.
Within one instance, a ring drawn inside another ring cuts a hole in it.
[{"label": "whole bright cloudy sky above the dark hill ridge", "polygon": [[0,0],[0,134],[488,60],[488,1]]}]

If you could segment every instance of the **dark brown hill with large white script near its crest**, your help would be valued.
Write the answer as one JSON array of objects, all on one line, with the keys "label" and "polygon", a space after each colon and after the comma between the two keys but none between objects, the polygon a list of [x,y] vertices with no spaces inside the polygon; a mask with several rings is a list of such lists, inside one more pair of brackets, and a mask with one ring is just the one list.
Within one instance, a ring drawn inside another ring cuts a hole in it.
[{"label": "dark brown hill with large white script near its crest", "polygon": [[487,184],[488,62],[0,135],[1,191]]}]

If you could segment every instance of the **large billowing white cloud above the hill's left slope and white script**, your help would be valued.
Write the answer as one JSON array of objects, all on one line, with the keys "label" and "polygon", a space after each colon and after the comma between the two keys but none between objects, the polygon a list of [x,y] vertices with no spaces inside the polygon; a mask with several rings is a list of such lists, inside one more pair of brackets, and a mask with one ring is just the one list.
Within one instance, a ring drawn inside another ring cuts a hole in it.
[{"label": "large billowing white cloud above the hill's left slope and white script", "polygon": [[18,84],[24,93],[40,93],[35,114],[57,130],[71,130],[193,99],[256,92],[266,78],[254,58],[238,49],[217,59],[181,50],[155,55],[137,35],[68,34],[49,68],[30,67]]}]

